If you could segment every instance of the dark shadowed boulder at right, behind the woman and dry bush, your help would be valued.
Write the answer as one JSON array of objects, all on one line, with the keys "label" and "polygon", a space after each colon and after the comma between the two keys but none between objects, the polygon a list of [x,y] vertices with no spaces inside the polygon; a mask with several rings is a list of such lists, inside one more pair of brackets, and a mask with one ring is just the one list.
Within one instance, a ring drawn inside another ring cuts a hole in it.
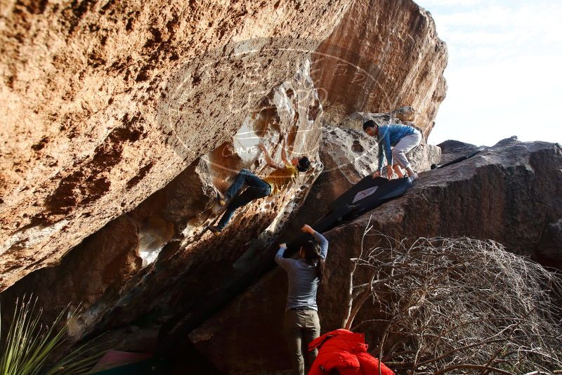
[{"label": "dark shadowed boulder at right, behind the woman and dry bush", "polygon": [[[360,254],[367,223],[396,239],[494,239],[509,251],[561,268],[561,197],[558,144],[509,138],[462,163],[420,173],[403,197],[325,233],[330,244],[327,282],[318,292],[322,332],[339,328],[346,316],[342,301],[349,290],[350,258]],[[363,247],[370,249],[381,239],[367,236]],[[287,369],[282,337],[286,293],[285,272],[274,270],[193,331],[190,339],[223,371],[239,370],[247,360],[254,369]],[[376,314],[368,303],[360,311],[360,317]],[[367,342],[376,343],[380,332],[365,329]],[[254,355],[248,359],[250,345]]]}]

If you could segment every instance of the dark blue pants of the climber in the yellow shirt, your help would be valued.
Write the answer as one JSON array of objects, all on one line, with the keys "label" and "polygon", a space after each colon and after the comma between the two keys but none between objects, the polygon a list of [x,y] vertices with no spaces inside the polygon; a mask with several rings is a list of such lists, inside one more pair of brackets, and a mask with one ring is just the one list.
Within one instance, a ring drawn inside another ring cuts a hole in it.
[{"label": "dark blue pants of the climber in the yellow shirt", "polygon": [[[248,186],[247,189],[244,190],[241,195],[235,197],[236,193],[242,189],[244,185]],[[232,197],[235,198],[228,203],[228,207],[226,208],[221,221],[218,222],[217,227],[221,230],[224,229],[226,224],[228,224],[228,221],[230,221],[230,218],[233,217],[236,209],[248,204],[254,199],[267,197],[270,194],[271,185],[247,169],[242,169],[240,173],[237,174],[234,182],[230,185],[230,187],[228,187],[228,190],[226,190],[226,199],[230,200]]]}]

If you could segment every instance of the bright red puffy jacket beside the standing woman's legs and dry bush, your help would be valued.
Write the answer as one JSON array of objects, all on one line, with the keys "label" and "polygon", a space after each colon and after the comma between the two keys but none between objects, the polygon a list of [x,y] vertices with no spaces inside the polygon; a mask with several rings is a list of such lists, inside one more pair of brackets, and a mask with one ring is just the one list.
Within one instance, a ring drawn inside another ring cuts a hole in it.
[{"label": "bright red puffy jacket beside the standing woman's legs and dry bush", "polygon": [[[367,353],[368,345],[363,334],[336,329],[315,338],[308,350],[314,348],[318,348],[318,357],[308,375],[326,375],[332,369],[337,369],[341,375],[379,374],[379,360]],[[380,365],[382,375],[394,375],[382,362]]]}]

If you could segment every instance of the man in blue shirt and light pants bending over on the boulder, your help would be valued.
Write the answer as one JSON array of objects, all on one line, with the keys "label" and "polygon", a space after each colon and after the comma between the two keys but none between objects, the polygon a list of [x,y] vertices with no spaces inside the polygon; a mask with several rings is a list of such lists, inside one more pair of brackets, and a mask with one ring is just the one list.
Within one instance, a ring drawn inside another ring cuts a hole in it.
[{"label": "man in blue shirt and light pants bending over on the boulder", "polygon": [[[417,178],[417,173],[414,172],[406,158],[406,152],[421,143],[421,133],[417,129],[403,124],[379,126],[373,120],[369,120],[363,123],[363,131],[372,137],[377,137],[379,143],[379,165],[373,177],[381,176],[383,158],[386,157],[388,180],[392,178],[393,169],[398,178],[404,177],[400,167],[407,171],[408,177],[412,180]],[[391,146],[394,146],[392,150]]]}]

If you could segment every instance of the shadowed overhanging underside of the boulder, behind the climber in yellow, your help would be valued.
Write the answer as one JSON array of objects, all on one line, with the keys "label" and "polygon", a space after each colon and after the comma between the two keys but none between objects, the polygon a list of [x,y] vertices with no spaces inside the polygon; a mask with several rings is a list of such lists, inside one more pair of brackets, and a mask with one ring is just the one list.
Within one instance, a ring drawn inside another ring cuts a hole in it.
[{"label": "shadowed overhanging underside of the boulder, behind the climber in yellow", "polygon": [[[79,338],[151,310],[159,316],[190,311],[237,277],[259,270],[264,260],[269,263],[271,254],[262,249],[298,211],[322,171],[317,120],[322,108],[309,69],[305,61],[292,79],[264,96],[232,141],[197,158],[136,209],[84,239],[60,265],[20,279],[4,291],[4,301],[33,293],[53,314],[67,303],[81,303],[84,313],[73,329]],[[290,154],[308,155],[312,168],[284,194],[237,211],[220,237],[202,233],[217,217],[216,191],[226,190],[237,171],[248,168],[261,177],[270,173],[256,145],[262,142],[271,154],[279,154],[281,134],[287,134]],[[38,283],[55,282],[61,275],[65,282],[55,289]]]}]

